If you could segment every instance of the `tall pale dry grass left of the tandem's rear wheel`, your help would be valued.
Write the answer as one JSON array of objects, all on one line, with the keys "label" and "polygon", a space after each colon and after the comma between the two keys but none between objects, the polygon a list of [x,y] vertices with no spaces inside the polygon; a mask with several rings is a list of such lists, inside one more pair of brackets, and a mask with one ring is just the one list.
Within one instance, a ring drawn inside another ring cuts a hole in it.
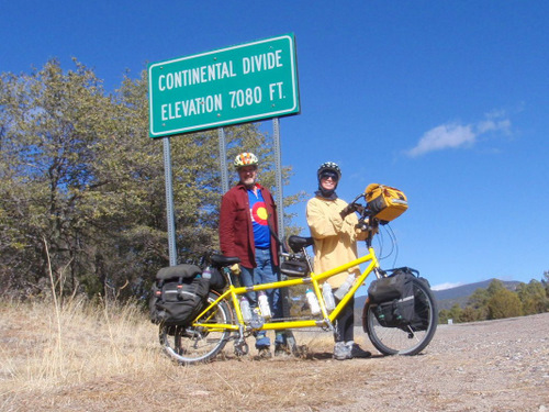
[{"label": "tall pale dry grass left of the tandem's rear wheel", "polygon": [[3,304],[0,309],[2,393],[47,390],[98,377],[146,374],[160,354],[154,326],[134,305],[75,300]]}]

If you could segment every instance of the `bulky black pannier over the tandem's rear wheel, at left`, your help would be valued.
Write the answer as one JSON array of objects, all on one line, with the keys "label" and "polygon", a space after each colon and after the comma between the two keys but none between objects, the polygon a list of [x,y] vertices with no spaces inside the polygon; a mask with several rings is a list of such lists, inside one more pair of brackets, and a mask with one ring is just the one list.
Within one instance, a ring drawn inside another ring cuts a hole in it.
[{"label": "bulky black pannier over the tandem's rear wheel, at left", "polygon": [[210,281],[194,265],[163,268],[156,274],[149,300],[150,321],[166,326],[184,326],[204,308]]}]

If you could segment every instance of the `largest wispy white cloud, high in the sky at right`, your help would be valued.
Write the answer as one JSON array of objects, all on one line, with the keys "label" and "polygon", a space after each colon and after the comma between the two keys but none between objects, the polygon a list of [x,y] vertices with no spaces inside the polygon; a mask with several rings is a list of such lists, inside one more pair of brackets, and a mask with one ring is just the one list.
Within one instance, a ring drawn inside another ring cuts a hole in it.
[{"label": "largest wispy white cloud, high in the sky at right", "polygon": [[498,120],[497,118],[502,115],[502,113],[490,113],[486,114],[485,120],[475,124],[448,123],[436,126],[426,132],[417,145],[407,151],[407,155],[415,157],[446,148],[471,147],[484,133],[509,133],[511,121],[508,119]]}]

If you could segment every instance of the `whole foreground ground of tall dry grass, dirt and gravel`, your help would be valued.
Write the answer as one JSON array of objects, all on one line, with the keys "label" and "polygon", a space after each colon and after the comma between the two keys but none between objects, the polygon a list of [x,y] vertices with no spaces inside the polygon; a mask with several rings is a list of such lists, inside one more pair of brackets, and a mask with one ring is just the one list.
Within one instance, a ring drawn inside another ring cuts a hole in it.
[{"label": "whole foreground ground of tall dry grass, dirt and gravel", "polygon": [[421,356],[344,363],[330,357],[329,333],[295,333],[303,357],[239,359],[229,343],[215,361],[181,367],[132,304],[4,302],[0,410],[540,411],[548,327],[549,313],[440,327]]}]

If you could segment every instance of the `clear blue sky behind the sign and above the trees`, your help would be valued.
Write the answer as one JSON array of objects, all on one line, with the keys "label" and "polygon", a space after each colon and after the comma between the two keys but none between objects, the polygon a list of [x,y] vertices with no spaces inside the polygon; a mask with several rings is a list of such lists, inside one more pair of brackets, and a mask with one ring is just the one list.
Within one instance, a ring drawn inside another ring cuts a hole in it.
[{"label": "clear blue sky behind the sign and above the trees", "polygon": [[[346,200],[370,182],[408,196],[384,267],[434,286],[529,281],[549,270],[548,20],[545,0],[21,0],[2,5],[0,71],[76,57],[113,90],[148,63],[294,33],[284,194],[312,193],[318,165],[336,162]],[[305,226],[305,204],[291,211]]]}]

